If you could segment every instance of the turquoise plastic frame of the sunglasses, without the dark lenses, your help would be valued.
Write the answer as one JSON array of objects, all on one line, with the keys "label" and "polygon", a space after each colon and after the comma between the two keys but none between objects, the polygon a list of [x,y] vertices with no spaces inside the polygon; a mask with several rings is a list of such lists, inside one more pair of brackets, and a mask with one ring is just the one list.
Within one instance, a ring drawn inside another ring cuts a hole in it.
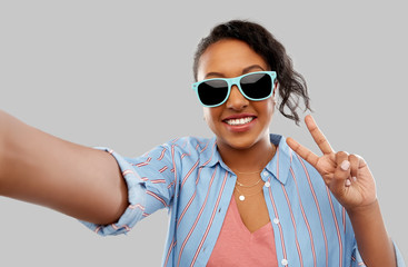
[{"label": "turquoise plastic frame of the sunglasses, without the dark lenses", "polygon": [[[271,85],[272,85],[272,88],[270,90],[270,93],[267,96],[267,97],[263,97],[263,98],[250,98],[248,97],[242,88],[241,88],[241,85],[240,85],[240,81],[242,78],[247,77],[247,76],[251,76],[251,75],[256,75],[256,73],[265,73],[265,75],[268,75],[271,79]],[[276,71],[256,71],[256,72],[250,72],[250,73],[247,73],[247,75],[242,75],[242,76],[238,76],[238,77],[235,77],[235,78],[212,78],[212,79],[207,79],[207,80],[201,80],[201,81],[197,81],[195,83],[192,83],[192,89],[196,91],[197,93],[197,97],[199,99],[199,101],[201,102],[202,106],[207,107],[207,108],[213,108],[213,107],[218,107],[218,106],[221,106],[222,103],[225,103],[227,101],[227,99],[229,98],[229,95],[231,93],[231,87],[232,86],[237,86],[239,91],[242,93],[242,96],[251,101],[261,101],[261,100],[265,100],[267,98],[269,98],[272,93],[273,93],[273,86],[275,86],[275,79],[276,79],[277,75],[276,75]],[[228,85],[228,92],[227,92],[227,96],[226,98],[219,102],[219,103],[215,103],[215,105],[206,105],[201,101],[200,99],[200,96],[199,96],[199,92],[198,92],[198,87],[202,83],[202,82],[206,82],[206,81],[211,81],[211,80],[222,80],[222,81],[226,81],[227,85]]]}]

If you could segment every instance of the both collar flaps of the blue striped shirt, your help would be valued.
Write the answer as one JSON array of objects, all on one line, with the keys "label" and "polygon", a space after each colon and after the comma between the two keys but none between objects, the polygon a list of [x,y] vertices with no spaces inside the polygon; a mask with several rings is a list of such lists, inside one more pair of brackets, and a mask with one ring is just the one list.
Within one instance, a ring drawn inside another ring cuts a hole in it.
[{"label": "both collar flaps of the blue striped shirt", "polygon": [[[286,144],[286,138],[280,135],[270,135],[270,141],[277,146],[277,152],[272,160],[266,166],[266,169],[272,174],[272,177],[281,184],[286,184],[291,165],[292,150]],[[222,161],[217,149],[217,137],[208,140],[205,148],[201,150],[199,167],[213,167],[220,164],[225,169],[230,170]]]}]

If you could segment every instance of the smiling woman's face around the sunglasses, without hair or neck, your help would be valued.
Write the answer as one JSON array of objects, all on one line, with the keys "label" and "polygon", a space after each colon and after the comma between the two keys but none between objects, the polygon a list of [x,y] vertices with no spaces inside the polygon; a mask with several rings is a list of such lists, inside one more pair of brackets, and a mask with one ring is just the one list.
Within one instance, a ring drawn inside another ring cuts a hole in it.
[{"label": "smiling woman's face around the sunglasses, without hair or neck", "polygon": [[[211,44],[202,53],[197,78],[232,78],[263,70],[270,70],[269,66],[246,42],[227,39]],[[273,108],[272,98],[251,101],[241,95],[237,86],[232,86],[223,105],[203,108],[203,113],[220,148],[249,149],[255,145],[269,144]]]}]

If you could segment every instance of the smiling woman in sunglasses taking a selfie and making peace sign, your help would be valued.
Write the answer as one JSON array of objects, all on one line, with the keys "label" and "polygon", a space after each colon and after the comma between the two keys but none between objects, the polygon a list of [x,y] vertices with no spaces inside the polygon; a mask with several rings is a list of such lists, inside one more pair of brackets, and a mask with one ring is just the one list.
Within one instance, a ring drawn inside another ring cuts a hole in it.
[{"label": "smiling woman in sunglasses taking a selfie and making peace sign", "polygon": [[163,266],[396,266],[364,159],[335,152],[311,117],[321,157],[269,134],[278,96],[280,112],[296,122],[299,99],[306,108],[309,99],[268,31],[246,21],[216,27],[193,70],[215,138],[180,138],[130,159],[2,112],[0,194],[79,218],[101,235],[126,233],[166,207]]}]

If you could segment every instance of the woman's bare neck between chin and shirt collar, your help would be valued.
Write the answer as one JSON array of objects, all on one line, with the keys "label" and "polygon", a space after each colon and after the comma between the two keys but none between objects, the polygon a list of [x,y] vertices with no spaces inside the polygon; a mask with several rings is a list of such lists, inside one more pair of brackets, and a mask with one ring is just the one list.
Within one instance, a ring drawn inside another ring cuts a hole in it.
[{"label": "woman's bare neck between chin and shirt collar", "polygon": [[276,152],[276,147],[270,142],[269,136],[249,148],[237,149],[218,141],[217,146],[223,162],[233,171],[239,172],[262,170]]}]

